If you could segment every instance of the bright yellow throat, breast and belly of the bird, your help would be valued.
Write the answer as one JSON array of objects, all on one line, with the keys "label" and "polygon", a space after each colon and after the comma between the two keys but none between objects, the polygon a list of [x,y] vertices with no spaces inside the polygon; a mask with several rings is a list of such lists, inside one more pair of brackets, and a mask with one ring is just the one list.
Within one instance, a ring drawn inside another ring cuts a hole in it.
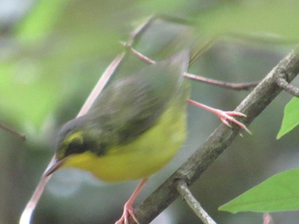
[{"label": "bright yellow throat, breast and belly of the bird", "polygon": [[183,95],[169,105],[154,126],[133,142],[111,148],[100,157],[90,151],[72,155],[63,166],[90,171],[105,181],[149,177],[173,158],[186,139],[187,105],[186,94]]}]

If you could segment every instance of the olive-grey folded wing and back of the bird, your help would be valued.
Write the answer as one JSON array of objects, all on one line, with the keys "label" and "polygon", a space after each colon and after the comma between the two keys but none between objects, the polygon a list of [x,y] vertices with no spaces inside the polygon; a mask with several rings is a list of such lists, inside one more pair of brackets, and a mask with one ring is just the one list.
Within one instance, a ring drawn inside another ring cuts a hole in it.
[{"label": "olive-grey folded wing and back of the bird", "polygon": [[[126,144],[155,125],[165,107],[181,92],[187,51],[147,66],[107,87],[86,113],[89,124],[100,125],[112,142]],[[109,139],[107,139],[109,140]]]}]

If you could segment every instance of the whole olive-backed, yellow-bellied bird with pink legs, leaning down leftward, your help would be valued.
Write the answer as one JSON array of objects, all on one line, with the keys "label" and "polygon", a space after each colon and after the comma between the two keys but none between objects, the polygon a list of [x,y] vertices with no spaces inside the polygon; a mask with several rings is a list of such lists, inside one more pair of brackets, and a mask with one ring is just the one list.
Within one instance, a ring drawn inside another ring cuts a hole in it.
[{"label": "whole olive-backed, yellow-bellied bird with pink legs, leaning down leftward", "polygon": [[129,216],[138,223],[132,203],[147,178],[170,162],[187,137],[187,102],[196,105],[184,78],[188,64],[189,50],[183,50],[104,88],[87,113],[62,126],[45,177],[73,167],[108,182],[143,179],[115,224],[129,224]]}]

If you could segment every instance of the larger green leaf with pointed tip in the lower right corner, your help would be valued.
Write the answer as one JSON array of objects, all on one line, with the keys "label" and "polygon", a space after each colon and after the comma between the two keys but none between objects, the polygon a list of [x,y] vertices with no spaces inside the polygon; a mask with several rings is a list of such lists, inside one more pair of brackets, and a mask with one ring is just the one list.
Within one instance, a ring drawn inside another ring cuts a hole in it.
[{"label": "larger green leaf with pointed tip in the lower right corner", "polygon": [[218,209],[231,213],[298,210],[298,179],[299,169],[276,174]]}]

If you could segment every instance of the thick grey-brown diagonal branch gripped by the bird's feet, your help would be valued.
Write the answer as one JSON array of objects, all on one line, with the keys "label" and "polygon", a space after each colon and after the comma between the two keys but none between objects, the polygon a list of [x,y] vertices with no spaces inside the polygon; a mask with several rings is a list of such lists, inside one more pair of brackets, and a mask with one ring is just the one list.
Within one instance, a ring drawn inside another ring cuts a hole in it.
[{"label": "thick grey-brown diagonal branch gripped by the bird's feet", "polygon": [[[242,118],[244,124],[250,124],[282,91],[275,78],[284,74],[291,81],[299,73],[298,48],[282,59],[240,103],[235,111],[247,115]],[[184,179],[191,185],[232,143],[239,133],[239,127],[227,128],[220,125],[203,145],[187,161],[158,187],[135,210],[140,223],[150,223],[179,196],[177,180]],[[131,220],[132,221],[132,220]]]}]

